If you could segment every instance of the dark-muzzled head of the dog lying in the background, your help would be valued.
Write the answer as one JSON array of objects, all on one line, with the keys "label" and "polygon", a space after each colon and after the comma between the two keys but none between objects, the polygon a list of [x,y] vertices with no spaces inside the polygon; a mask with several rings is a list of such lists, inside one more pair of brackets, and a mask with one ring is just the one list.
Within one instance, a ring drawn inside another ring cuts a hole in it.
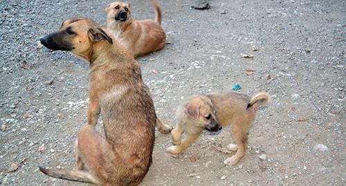
[{"label": "dark-muzzled head of the dog lying in the background", "polygon": [[107,19],[108,21],[120,21],[125,22],[131,18],[131,12],[129,10],[129,3],[113,2],[110,3],[107,8]]}]

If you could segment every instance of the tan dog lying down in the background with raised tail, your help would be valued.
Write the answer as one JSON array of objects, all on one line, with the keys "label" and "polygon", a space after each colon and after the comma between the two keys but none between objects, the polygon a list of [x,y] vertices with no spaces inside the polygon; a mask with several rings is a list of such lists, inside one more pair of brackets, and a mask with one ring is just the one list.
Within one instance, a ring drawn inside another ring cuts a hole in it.
[{"label": "tan dog lying down in the background with raised tail", "polygon": [[155,1],[152,5],[156,10],[156,21],[132,19],[129,3],[113,2],[106,8],[107,29],[134,56],[161,50],[166,44],[161,9]]}]

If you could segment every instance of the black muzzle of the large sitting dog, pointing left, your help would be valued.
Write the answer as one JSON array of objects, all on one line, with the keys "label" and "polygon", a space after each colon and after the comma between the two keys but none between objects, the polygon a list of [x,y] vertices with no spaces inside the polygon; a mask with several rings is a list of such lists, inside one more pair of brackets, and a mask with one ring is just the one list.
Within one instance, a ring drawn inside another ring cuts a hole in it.
[{"label": "black muzzle of the large sitting dog, pointing left", "polygon": [[62,39],[62,36],[63,35],[59,32],[55,32],[46,37],[42,37],[39,41],[41,41],[41,44],[46,46],[46,48],[51,50],[73,50],[73,46],[65,39]]}]

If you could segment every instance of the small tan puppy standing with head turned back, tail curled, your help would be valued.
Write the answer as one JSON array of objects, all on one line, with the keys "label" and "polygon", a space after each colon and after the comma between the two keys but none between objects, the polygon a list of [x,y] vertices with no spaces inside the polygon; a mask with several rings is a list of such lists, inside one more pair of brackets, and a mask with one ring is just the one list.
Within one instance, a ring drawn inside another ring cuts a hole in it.
[{"label": "small tan puppy standing with head turned back, tail curled", "polygon": [[[193,97],[177,111],[178,124],[172,130],[172,147],[167,148],[171,154],[180,154],[201,135],[203,129],[219,133],[221,126],[232,125],[233,138],[237,145],[230,144],[228,148],[236,151],[235,156],[227,158],[224,163],[235,165],[246,153],[248,148],[248,131],[251,122],[255,120],[258,106],[266,104],[269,96],[258,93],[248,97],[238,93],[217,93]],[[181,140],[183,131],[188,137]]]}]

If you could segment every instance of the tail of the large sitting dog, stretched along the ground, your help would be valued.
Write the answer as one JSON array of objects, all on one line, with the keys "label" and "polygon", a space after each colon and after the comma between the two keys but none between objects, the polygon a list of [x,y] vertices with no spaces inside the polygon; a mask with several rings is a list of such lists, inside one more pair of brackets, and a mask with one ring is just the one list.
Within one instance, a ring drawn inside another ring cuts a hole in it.
[{"label": "tail of the large sitting dog, stretched along the ground", "polygon": [[84,183],[93,183],[95,185],[100,185],[100,182],[93,178],[91,174],[89,174],[86,171],[66,171],[66,170],[50,170],[45,169],[44,167],[39,167],[39,170],[42,171],[47,176],[51,176],[54,178],[61,178],[64,180],[72,180],[72,181],[79,181]]}]

